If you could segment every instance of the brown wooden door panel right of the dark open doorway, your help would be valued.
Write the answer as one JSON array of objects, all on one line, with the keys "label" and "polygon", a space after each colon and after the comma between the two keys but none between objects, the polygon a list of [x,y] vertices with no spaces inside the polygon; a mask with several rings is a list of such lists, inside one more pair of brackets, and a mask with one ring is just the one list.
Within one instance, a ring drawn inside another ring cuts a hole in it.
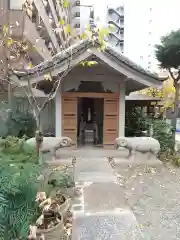
[{"label": "brown wooden door panel right of the dark open doorway", "polygon": [[113,146],[119,131],[119,99],[104,98],[104,147]]}]

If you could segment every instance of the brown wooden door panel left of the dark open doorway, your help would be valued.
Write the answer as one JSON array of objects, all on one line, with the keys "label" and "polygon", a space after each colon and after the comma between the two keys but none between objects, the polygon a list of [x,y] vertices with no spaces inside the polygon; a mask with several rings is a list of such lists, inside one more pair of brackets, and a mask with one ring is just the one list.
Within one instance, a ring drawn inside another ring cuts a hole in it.
[{"label": "brown wooden door panel left of the dark open doorway", "polygon": [[62,97],[62,133],[77,144],[77,98]]}]

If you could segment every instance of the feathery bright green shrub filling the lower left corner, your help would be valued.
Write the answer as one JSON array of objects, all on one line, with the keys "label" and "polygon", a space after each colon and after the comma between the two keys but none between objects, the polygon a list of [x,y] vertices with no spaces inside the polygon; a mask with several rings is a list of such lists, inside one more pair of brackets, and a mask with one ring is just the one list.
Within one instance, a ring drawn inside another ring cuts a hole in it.
[{"label": "feathery bright green shrub filling the lower left corner", "polygon": [[0,167],[0,239],[27,239],[36,219],[36,184],[39,169],[33,164]]}]

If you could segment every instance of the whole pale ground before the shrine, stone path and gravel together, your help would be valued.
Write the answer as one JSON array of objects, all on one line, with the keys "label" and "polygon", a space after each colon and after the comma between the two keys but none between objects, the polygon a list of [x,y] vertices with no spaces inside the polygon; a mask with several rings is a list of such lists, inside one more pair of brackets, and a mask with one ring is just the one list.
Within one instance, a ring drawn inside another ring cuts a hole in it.
[{"label": "whole pale ground before the shrine, stone path and gravel together", "polygon": [[[103,149],[60,151],[57,162],[77,158],[80,195],[73,206],[72,239],[180,239],[180,170],[158,161],[126,162],[125,155]],[[112,156],[113,167],[107,159]]]}]

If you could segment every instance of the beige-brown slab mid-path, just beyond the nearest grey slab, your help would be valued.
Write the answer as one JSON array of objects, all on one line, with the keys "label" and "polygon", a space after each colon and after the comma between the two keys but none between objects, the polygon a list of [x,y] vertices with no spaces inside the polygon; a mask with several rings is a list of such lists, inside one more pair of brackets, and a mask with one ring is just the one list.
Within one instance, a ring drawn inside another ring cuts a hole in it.
[{"label": "beige-brown slab mid-path, just beyond the nearest grey slab", "polygon": [[109,211],[127,207],[124,193],[116,183],[93,183],[83,189],[86,212]]}]

